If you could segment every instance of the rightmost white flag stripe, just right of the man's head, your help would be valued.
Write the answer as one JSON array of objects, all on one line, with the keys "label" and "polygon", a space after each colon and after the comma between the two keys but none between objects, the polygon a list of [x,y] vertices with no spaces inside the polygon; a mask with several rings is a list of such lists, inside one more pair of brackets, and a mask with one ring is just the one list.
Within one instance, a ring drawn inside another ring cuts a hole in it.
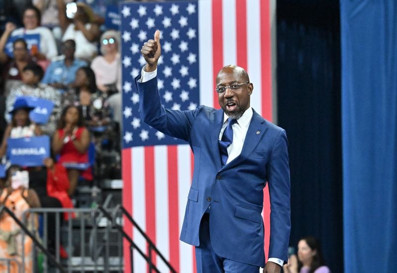
[{"label": "rightmost white flag stripe, just right of the man's head", "polygon": [[247,72],[254,83],[251,106],[262,114],[260,0],[247,1],[247,49]]}]

